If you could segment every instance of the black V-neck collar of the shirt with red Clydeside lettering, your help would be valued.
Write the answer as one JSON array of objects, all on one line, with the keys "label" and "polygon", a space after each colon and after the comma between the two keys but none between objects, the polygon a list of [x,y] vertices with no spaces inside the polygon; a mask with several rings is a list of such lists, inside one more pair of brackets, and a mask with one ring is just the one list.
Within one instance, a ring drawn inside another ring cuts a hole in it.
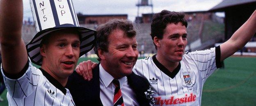
[{"label": "black V-neck collar of the shirt with red Clydeside lettering", "polygon": [[153,55],[153,62],[155,63],[155,65],[162,71],[164,72],[166,75],[168,75],[171,78],[174,78],[177,73],[180,71],[181,69],[181,62],[179,62],[178,66],[174,69],[174,71],[170,72],[167,68],[165,68],[165,66],[163,66],[160,62],[158,62],[158,60],[156,59],[156,54]]}]

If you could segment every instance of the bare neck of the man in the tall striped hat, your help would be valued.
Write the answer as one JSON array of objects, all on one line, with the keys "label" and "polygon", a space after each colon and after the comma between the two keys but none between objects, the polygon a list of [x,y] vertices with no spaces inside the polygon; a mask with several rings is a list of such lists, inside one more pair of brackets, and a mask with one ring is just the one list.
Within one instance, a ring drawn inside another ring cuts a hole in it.
[{"label": "bare neck of the man in the tall striped hat", "polygon": [[56,79],[60,84],[62,84],[62,86],[66,86],[66,83],[68,82],[68,77],[66,78],[61,78],[61,77],[57,77],[57,75],[55,75],[55,73],[53,73],[53,71],[51,71],[47,66],[42,65],[41,68],[46,71],[48,74],[50,74],[54,79]]}]

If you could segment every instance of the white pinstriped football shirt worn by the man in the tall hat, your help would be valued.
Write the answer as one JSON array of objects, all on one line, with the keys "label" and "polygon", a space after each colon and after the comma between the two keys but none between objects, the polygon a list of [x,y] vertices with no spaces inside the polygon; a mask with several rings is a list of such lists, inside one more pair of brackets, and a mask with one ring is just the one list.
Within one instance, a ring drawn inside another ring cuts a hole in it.
[{"label": "white pinstriped football shirt worn by the man in the tall hat", "polygon": [[25,74],[17,79],[7,77],[1,66],[9,106],[75,106],[68,89],[28,61]]}]

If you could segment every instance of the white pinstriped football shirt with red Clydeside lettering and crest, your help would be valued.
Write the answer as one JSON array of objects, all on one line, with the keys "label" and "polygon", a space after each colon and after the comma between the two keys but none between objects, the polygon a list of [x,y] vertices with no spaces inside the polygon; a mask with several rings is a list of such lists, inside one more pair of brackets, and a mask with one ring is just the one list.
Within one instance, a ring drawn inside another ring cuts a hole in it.
[{"label": "white pinstriped football shirt with red Clydeside lettering and crest", "polygon": [[216,48],[216,52],[211,48],[185,53],[173,72],[160,64],[155,55],[137,60],[133,72],[149,80],[156,93],[155,105],[198,106],[203,84],[217,69],[215,53],[220,54],[220,49]]}]

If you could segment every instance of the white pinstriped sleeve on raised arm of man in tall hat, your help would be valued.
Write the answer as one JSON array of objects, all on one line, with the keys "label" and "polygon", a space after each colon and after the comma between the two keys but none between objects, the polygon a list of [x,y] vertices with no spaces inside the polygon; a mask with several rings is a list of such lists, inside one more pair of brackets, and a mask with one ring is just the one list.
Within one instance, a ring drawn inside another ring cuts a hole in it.
[{"label": "white pinstriped sleeve on raised arm of man in tall hat", "polygon": [[8,95],[13,98],[21,99],[30,95],[37,88],[40,77],[43,76],[38,68],[32,66],[30,58],[28,61],[29,64],[26,72],[18,79],[10,79],[6,77],[1,65],[1,72],[4,77]]}]

